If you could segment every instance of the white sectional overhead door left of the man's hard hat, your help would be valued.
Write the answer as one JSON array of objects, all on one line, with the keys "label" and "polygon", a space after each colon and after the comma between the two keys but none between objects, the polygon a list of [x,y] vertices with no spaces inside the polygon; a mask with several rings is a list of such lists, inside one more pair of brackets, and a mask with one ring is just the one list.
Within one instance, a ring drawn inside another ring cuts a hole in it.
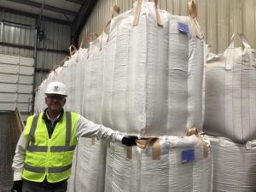
[{"label": "white sectional overhead door left of the man's hard hat", "polygon": [[32,112],[34,59],[0,54],[0,111],[15,111],[27,117]]}]

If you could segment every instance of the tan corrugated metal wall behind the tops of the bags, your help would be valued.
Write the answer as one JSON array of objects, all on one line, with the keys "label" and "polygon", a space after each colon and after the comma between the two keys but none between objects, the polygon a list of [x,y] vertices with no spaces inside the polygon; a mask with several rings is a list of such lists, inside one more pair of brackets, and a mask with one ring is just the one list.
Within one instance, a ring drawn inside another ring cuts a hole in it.
[{"label": "tan corrugated metal wall behind the tops of the bags", "polygon": [[[134,0],[98,0],[90,20],[81,32],[79,42],[90,32],[101,34],[103,26],[110,19],[111,6],[117,4],[121,12],[124,12],[131,9],[134,2]],[[173,15],[188,15],[188,0],[158,2],[160,9],[165,9]],[[234,32],[244,33],[252,47],[256,48],[255,0],[195,0],[195,3],[198,9],[198,21],[205,33],[207,44],[212,46],[212,52],[223,51]]]}]

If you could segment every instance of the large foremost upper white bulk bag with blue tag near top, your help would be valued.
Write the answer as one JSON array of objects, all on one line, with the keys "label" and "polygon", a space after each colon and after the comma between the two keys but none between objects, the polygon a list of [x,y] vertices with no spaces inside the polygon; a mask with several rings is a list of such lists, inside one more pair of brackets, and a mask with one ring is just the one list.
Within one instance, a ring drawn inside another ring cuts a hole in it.
[{"label": "large foremost upper white bulk bag with blue tag near top", "polygon": [[152,2],[137,1],[137,7],[113,18],[103,125],[147,136],[183,136],[194,126],[201,131],[203,49],[189,17],[170,15]]}]

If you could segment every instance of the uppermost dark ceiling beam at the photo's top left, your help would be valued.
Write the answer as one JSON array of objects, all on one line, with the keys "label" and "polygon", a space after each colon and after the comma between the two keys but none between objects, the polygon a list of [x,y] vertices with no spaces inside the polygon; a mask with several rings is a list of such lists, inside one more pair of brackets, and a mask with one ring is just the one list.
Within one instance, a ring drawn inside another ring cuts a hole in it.
[{"label": "uppermost dark ceiling beam at the photo's top left", "polygon": [[[43,4],[42,3],[36,3],[36,2],[32,2],[30,0],[8,0],[9,2],[15,2],[15,3],[20,3],[20,4],[26,4],[35,8],[42,8]],[[67,9],[60,9],[60,8],[55,8],[53,6],[44,4],[44,9],[49,10],[49,11],[53,11],[56,13],[61,13],[61,14],[66,14],[66,15],[72,15],[75,16],[77,15],[76,12],[67,10]]]}]

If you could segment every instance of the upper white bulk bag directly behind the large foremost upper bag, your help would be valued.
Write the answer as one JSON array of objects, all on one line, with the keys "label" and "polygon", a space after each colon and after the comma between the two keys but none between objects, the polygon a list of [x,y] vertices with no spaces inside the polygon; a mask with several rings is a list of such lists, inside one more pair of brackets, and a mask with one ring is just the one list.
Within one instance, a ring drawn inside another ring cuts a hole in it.
[{"label": "upper white bulk bag directly behind the large foremost upper bag", "polygon": [[[104,32],[90,42],[88,58],[84,67],[84,117],[102,124],[102,84],[108,35]],[[108,74],[105,74],[108,75]]]}]

